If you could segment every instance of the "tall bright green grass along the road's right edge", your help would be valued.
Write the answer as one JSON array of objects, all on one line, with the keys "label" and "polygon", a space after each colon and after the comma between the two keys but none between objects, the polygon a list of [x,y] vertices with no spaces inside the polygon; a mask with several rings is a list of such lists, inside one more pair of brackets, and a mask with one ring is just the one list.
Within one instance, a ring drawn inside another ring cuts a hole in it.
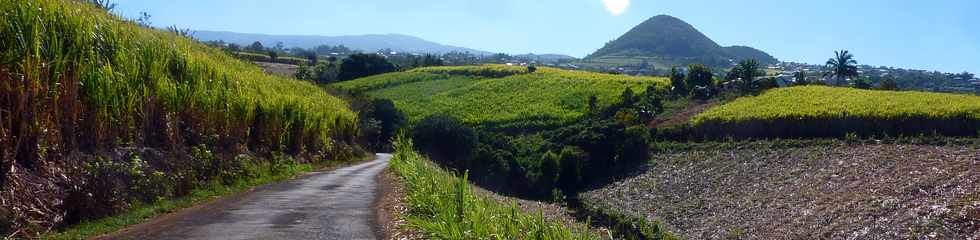
[{"label": "tall bright green grass along the road's right edge", "polygon": [[581,226],[563,226],[542,214],[521,212],[475,195],[466,180],[413,150],[404,137],[395,143],[391,169],[405,180],[408,226],[431,239],[600,239]]}]

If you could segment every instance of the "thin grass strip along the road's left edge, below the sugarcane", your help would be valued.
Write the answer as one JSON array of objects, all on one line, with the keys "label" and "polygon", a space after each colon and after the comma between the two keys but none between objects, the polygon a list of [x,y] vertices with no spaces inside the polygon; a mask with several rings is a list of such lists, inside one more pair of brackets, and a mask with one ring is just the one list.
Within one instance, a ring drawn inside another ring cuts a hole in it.
[{"label": "thin grass strip along the road's left edge, below the sugarcane", "polygon": [[[368,155],[373,156],[373,155]],[[254,187],[289,180],[304,173],[315,170],[332,169],[351,163],[365,161],[368,158],[360,158],[347,161],[323,161],[320,163],[287,164],[285,166],[272,166],[268,163],[261,163],[253,169],[251,178],[241,178],[232,184],[223,184],[220,180],[214,180],[201,187],[194,189],[190,194],[177,198],[165,198],[153,203],[137,203],[130,210],[112,217],[84,221],[73,225],[70,228],[49,233],[39,237],[39,239],[87,239],[98,235],[109,234],[119,231],[128,226],[141,224],[163,214],[172,213],[180,209],[192,207],[208,200],[247,192]]]}]

